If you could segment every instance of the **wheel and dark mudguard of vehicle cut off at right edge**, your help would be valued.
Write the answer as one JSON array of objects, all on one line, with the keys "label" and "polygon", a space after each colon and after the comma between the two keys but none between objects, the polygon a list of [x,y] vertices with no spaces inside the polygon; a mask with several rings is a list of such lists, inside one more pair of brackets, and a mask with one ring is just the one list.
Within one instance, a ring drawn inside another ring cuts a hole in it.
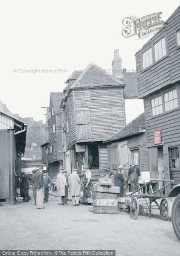
[{"label": "wheel and dark mudguard of vehicle cut off at right edge", "polygon": [[176,197],[172,205],[172,226],[177,239],[180,240],[180,184],[174,186],[169,197]]}]

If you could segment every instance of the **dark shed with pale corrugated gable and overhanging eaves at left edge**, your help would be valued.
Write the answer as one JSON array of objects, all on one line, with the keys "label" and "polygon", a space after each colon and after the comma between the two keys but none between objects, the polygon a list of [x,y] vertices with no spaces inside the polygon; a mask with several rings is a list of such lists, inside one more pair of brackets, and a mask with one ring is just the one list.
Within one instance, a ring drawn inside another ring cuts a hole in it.
[{"label": "dark shed with pale corrugated gable and overhanging eaves at left edge", "polygon": [[0,102],[0,201],[15,204],[27,125]]}]

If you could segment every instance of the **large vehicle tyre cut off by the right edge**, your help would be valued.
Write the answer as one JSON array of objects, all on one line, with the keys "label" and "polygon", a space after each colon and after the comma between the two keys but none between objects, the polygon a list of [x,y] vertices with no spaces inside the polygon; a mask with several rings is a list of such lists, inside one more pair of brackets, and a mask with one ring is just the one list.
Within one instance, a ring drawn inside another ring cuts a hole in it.
[{"label": "large vehicle tyre cut off by the right edge", "polygon": [[180,194],[176,196],[172,205],[172,226],[180,241]]}]

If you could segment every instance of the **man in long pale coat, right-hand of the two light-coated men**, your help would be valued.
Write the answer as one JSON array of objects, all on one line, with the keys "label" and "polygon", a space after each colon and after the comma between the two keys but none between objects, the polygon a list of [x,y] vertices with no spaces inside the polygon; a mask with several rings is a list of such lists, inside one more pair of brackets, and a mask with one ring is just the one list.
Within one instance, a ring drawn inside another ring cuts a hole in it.
[{"label": "man in long pale coat, right-hand of the two light-coated men", "polygon": [[70,193],[72,195],[73,205],[79,206],[79,195],[81,189],[81,180],[77,174],[78,170],[73,169],[73,173],[69,176],[70,181]]}]

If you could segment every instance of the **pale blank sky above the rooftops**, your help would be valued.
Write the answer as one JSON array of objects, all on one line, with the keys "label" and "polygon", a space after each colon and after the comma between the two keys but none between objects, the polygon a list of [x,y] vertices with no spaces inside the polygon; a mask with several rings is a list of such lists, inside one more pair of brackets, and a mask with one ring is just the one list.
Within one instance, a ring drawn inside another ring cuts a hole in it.
[{"label": "pale blank sky above the rooftops", "polygon": [[[73,70],[91,61],[111,69],[114,49],[119,49],[123,68],[135,69],[135,52],[149,38],[124,38],[125,17],[162,12],[167,20],[178,6],[178,0],[1,0],[0,100],[22,117],[45,120],[41,107],[49,105],[51,91],[63,90]],[[32,69],[40,72],[21,73]],[[143,112],[142,100],[136,102],[132,108],[132,101],[126,101],[127,123]]]}]

